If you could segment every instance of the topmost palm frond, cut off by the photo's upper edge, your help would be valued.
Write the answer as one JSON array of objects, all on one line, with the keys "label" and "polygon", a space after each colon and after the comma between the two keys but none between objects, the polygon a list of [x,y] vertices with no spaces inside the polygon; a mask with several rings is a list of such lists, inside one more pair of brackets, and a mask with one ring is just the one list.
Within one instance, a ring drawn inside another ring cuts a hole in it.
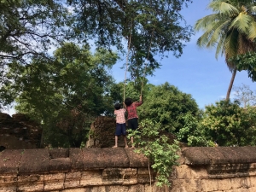
[{"label": "topmost palm frond, cut off by the photo's upper edge", "polygon": [[212,1],[212,3],[209,3],[208,8],[212,9],[212,11],[220,15],[231,16],[239,14],[239,10],[236,9],[235,6],[231,5],[230,3],[224,2],[223,0]]}]

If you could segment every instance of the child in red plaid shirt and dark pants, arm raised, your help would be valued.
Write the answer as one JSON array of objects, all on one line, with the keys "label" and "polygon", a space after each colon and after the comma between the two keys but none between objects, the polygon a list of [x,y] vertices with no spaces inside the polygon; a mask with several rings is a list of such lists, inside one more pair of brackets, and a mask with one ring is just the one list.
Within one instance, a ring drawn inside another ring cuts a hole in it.
[{"label": "child in red plaid shirt and dark pants, arm raised", "polygon": [[[131,130],[137,130],[138,127],[138,116],[137,116],[137,107],[143,104],[142,96],[140,96],[140,102],[132,102],[131,98],[125,99],[125,106],[128,112],[128,128]],[[134,148],[133,137],[131,137],[131,148]]]}]

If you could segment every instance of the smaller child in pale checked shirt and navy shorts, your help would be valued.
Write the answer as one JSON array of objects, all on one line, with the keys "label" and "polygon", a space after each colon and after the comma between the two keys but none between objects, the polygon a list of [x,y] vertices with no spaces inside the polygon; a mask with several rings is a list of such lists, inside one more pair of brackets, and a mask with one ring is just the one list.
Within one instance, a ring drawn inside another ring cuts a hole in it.
[{"label": "smaller child in pale checked shirt and navy shorts", "polygon": [[125,125],[125,108],[121,108],[119,103],[114,105],[114,114],[116,116],[116,130],[115,130],[115,137],[114,142],[115,145],[112,148],[118,147],[118,137],[123,135],[125,139],[125,148],[128,148],[127,141],[126,141],[126,125]]}]

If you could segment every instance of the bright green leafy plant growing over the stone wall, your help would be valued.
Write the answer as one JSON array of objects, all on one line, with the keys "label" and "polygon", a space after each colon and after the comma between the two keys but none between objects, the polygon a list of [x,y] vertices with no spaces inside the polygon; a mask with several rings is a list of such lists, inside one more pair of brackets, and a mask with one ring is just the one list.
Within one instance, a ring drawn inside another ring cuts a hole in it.
[{"label": "bright green leafy plant growing over the stone wall", "polygon": [[172,173],[172,167],[177,166],[179,150],[177,141],[171,141],[165,135],[160,123],[153,120],[144,119],[137,131],[130,131],[128,137],[134,137],[134,143],[139,146],[137,153],[142,153],[149,158],[151,167],[157,173],[157,186],[170,185],[169,176]]}]

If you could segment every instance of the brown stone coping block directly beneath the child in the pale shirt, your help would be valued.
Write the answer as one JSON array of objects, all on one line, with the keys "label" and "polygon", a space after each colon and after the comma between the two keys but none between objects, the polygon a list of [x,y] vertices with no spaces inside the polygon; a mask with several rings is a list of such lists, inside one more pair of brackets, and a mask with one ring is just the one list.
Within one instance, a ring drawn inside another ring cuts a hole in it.
[{"label": "brown stone coping block directly beneath the child in the pale shirt", "polygon": [[106,167],[129,167],[129,159],[124,148],[102,148]]}]

